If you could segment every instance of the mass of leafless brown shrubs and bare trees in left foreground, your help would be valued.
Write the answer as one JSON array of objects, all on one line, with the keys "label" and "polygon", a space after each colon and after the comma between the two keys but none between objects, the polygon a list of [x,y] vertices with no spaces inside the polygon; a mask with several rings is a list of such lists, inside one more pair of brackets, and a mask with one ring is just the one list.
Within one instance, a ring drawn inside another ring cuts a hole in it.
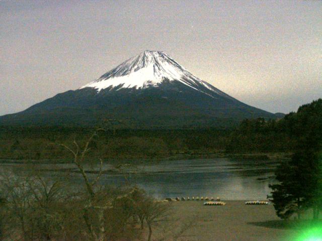
[{"label": "mass of leafless brown shrubs and bare trees in left foreground", "polygon": [[[73,164],[84,181],[81,187],[69,184],[68,175],[59,179],[37,171],[0,175],[0,241],[142,240],[144,237],[151,241],[152,231],[170,225],[170,203],[156,201],[131,185],[130,179],[126,179],[122,188],[100,185],[102,159],[99,170],[91,172],[97,174],[89,175],[85,168],[86,155],[101,130],[94,132],[83,147],[76,141],[73,147],[61,144],[73,155]],[[124,174],[129,168],[122,165],[119,169]],[[182,226],[182,231],[171,233],[172,239],[163,240],[177,240],[185,229]],[[143,235],[145,231],[148,233]],[[160,238],[157,232],[156,237]]]}]

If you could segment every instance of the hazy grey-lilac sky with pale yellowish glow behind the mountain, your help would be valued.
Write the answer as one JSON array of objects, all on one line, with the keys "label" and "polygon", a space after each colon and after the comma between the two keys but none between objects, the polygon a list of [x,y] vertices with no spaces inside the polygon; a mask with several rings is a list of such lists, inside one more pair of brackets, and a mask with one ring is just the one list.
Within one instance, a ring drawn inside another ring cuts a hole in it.
[{"label": "hazy grey-lilac sky with pale yellowish glow behind the mountain", "polygon": [[0,115],[143,50],[271,112],[322,97],[322,1],[0,0]]}]

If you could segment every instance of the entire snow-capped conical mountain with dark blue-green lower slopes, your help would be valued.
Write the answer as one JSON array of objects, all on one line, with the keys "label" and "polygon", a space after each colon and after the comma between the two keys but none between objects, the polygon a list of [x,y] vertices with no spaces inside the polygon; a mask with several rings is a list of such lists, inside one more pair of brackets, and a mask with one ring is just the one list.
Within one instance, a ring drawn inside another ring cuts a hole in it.
[{"label": "entire snow-capped conical mountain with dark blue-green lower slopes", "polygon": [[146,50],[76,90],[0,116],[0,125],[94,126],[114,118],[132,128],[195,128],[256,117],[277,116],[227,95],[166,53]]}]

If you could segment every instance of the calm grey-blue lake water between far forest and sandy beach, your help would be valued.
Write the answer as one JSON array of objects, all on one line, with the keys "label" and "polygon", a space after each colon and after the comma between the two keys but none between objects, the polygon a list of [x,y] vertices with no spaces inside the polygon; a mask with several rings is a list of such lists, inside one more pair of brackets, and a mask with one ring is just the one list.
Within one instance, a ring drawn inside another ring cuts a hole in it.
[{"label": "calm grey-blue lake water between far forest and sandy beach", "polygon": [[[272,160],[234,160],[229,158],[161,161],[137,165],[127,169],[130,183],[144,188],[156,198],[208,196],[222,200],[261,200],[270,194],[269,184],[275,183]],[[21,167],[21,164],[1,164],[3,170]],[[40,169],[72,168],[70,164],[38,164]],[[113,168],[104,165],[104,170]],[[54,172],[46,172],[50,176]],[[55,172],[55,175],[60,175]],[[63,174],[61,174],[63,175]],[[94,176],[94,174],[91,176]],[[81,183],[79,174],[73,174],[74,182]],[[121,186],[126,183],[123,174],[104,174],[101,184]]]}]

